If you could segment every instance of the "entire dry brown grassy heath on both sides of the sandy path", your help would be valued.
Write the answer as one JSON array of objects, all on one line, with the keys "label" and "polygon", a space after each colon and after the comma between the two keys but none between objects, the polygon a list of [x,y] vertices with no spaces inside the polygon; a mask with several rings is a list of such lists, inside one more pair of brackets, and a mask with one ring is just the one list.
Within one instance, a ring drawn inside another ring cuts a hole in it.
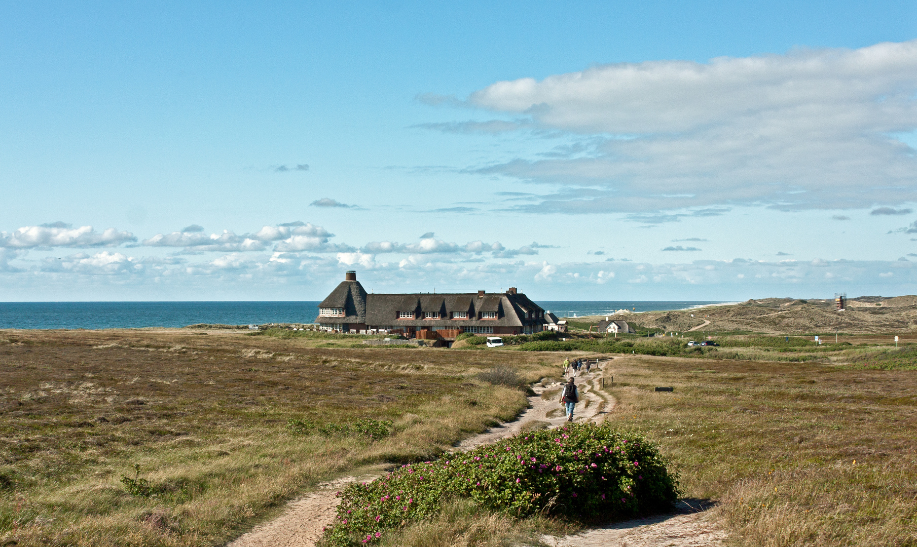
[{"label": "entire dry brown grassy heath on both sides of the sandy path", "polygon": [[[604,369],[619,402],[609,420],[660,445],[685,495],[717,504],[731,544],[915,545],[915,357],[888,338],[723,336],[706,354],[618,354]],[[223,544],[320,480],[434,457],[525,406],[521,390],[481,372],[511,366],[532,382],[585,355],[350,344],[227,330],[0,332],[0,545]],[[287,428],[363,417],[392,421],[392,434]],[[152,496],[131,495],[123,477],[148,481]],[[385,544],[531,544],[577,526],[452,501]]]}]

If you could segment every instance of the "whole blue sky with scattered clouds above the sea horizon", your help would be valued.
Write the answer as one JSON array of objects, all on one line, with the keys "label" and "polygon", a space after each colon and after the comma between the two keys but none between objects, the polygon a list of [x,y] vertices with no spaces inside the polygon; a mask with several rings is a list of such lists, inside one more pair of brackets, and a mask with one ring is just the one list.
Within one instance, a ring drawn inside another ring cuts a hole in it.
[{"label": "whole blue sky with scattered clouds above the sea horizon", "polygon": [[917,5],[0,5],[0,300],[913,293]]}]

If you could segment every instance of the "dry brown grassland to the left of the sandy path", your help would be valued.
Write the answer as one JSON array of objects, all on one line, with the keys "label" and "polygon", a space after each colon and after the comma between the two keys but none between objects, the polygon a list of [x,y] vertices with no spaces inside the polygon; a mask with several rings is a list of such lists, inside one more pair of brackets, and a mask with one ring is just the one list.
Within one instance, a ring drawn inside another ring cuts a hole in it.
[{"label": "dry brown grassland to the left of the sandy path", "polygon": [[[432,457],[525,407],[522,392],[476,374],[549,371],[537,355],[315,349],[231,331],[0,338],[0,544],[226,542],[321,479]],[[394,433],[370,443],[285,429],[360,416]],[[157,497],[120,483],[135,463]]]}]

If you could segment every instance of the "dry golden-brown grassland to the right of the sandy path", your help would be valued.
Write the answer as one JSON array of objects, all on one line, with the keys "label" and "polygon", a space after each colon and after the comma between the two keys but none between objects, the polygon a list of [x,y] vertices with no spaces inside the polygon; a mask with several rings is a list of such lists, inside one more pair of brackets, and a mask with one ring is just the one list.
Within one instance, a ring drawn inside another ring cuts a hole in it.
[{"label": "dry golden-brown grassland to the right of the sandy path", "polygon": [[732,544],[917,544],[917,373],[626,356],[604,374],[609,420],[720,502]]}]

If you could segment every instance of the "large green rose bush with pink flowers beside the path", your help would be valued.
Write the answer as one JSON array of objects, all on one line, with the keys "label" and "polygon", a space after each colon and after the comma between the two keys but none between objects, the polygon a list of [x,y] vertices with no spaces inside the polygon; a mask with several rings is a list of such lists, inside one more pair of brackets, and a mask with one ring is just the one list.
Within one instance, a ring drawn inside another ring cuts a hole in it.
[{"label": "large green rose bush with pink flowers beside the path", "polygon": [[350,485],[324,542],[376,542],[386,531],[436,515],[449,497],[517,518],[542,513],[595,521],[668,509],[678,494],[677,476],[644,436],[569,424]]}]

